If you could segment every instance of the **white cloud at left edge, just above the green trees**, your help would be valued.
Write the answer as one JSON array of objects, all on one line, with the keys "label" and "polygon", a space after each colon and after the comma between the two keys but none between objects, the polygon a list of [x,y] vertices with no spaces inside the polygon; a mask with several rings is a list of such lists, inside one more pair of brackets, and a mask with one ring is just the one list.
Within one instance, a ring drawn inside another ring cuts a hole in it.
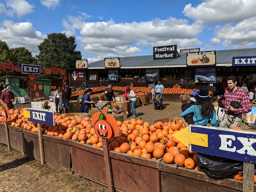
[{"label": "white cloud at left edge, just above the green trees", "polygon": [[0,27],[0,39],[4,40],[10,48],[26,47],[29,51],[37,53],[37,45],[47,35],[42,34],[32,27],[30,22],[16,22],[4,20]]}]

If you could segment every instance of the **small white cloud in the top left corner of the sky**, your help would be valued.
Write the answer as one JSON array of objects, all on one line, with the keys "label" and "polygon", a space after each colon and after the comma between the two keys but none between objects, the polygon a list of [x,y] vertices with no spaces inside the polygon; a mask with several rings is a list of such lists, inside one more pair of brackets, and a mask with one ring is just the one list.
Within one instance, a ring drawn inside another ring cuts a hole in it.
[{"label": "small white cloud in the top left corner of the sky", "polygon": [[18,17],[21,17],[25,14],[33,12],[33,5],[29,4],[26,0],[5,0],[6,7],[4,4],[0,3],[0,9],[8,16],[13,16],[17,14]]}]

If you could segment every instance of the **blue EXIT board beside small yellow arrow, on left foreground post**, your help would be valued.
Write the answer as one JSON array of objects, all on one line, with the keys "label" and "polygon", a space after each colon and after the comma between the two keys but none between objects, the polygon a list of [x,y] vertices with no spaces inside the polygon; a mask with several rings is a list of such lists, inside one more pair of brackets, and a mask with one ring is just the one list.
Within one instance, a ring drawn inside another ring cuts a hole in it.
[{"label": "blue EXIT board beside small yellow arrow, on left foreground post", "polygon": [[46,109],[33,109],[26,108],[30,112],[30,118],[28,121],[37,122],[41,124],[48,124],[54,126],[54,112]]}]

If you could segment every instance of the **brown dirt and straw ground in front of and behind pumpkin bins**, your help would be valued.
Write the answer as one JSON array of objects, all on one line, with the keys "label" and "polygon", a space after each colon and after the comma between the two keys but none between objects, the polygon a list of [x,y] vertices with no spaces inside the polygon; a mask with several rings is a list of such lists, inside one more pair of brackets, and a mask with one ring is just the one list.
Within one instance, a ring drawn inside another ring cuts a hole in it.
[{"label": "brown dirt and straw ground in front of and behind pumpkin bins", "polygon": [[[136,107],[137,117],[150,124],[153,120],[166,117],[179,117],[180,102],[163,102],[162,110],[154,110],[152,104]],[[16,104],[15,108],[29,107],[29,104]],[[131,117],[127,118],[130,119]],[[244,130],[249,129],[242,123]],[[254,131],[254,130],[252,130]],[[9,191],[107,191],[105,186],[72,175],[51,165],[41,165],[40,161],[22,156],[14,149],[10,151],[0,145],[0,192]]]}]

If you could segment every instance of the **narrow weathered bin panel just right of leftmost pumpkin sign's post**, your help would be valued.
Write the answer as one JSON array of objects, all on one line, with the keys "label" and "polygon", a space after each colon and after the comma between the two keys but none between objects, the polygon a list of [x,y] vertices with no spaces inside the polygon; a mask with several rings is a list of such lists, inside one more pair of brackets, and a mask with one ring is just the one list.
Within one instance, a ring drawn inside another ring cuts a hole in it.
[{"label": "narrow weathered bin panel just right of leftmost pumpkin sign's post", "polygon": [[21,127],[8,125],[9,138],[10,138],[10,147],[24,152],[24,139]]}]

